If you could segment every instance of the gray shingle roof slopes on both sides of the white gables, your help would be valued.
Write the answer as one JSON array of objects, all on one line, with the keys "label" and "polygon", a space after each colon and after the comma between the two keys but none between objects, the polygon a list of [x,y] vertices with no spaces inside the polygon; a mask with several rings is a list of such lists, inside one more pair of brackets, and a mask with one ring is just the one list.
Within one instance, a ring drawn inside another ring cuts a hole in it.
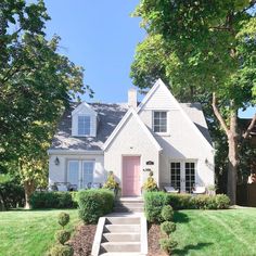
[{"label": "gray shingle roof slopes on both sides of the white gables", "polygon": [[[57,131],[52,140],[50,150],[101,150],[106,139],[111,136],[117,124],[128,110],[127,104],[89,104],[98,113],[99,124],[97,137],[73,137],[72,136],[72,111],[79,103],[73,103],[71,108],[65,111],[59,124]],[[212,144],[208,128],[200,103],[180,103],[202,135]]]}]

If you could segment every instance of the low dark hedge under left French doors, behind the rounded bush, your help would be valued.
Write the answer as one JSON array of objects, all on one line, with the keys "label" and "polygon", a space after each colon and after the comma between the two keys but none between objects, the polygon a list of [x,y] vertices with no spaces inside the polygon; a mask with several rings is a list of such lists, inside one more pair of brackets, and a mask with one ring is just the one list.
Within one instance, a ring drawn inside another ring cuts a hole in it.
[{"label": "low dark hedge under left French doors, behind the rounded bush", "polygon": [[[74,192],[72,192],[74,193]],[[35,192],[30,196],[29,204],[34,209],[40,208],[76,208],[77,203],[71,192]]]}]

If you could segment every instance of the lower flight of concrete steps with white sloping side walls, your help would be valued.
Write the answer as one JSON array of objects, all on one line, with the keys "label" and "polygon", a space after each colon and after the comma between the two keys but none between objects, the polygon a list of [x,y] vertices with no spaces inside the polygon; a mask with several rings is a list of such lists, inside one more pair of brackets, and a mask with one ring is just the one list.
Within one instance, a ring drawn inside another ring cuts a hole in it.
[{"label": "lower flight of concrete steps with white sloping side walls", "polygon": [[146,220],[142,214],[102,217],[98,222],[92,256],[146,255]]}]

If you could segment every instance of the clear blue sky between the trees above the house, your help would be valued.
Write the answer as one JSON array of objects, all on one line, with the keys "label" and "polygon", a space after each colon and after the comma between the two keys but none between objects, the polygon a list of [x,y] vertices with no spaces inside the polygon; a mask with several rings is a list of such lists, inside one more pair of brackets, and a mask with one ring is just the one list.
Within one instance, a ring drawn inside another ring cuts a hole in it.
[{"label": "clear blue sky between the trees above the house", "polygon": [[[49,37],[56,34],[61,53],[85,71],[85,84],[94,102],[126,102],[135,49],[145,33],[130,13],[139,0],[44,0],[51,21]],[[252,117],[255,108],[241,115]]]}]

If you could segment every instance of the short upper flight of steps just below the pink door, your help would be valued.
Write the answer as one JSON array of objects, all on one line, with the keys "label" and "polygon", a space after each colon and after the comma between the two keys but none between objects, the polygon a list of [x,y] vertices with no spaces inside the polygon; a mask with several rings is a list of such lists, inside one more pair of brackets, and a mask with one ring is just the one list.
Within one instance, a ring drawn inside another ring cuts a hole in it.
[{"label": "short upper flight of steps just below the pink door", "polygon": [[115,201],[115,213],[143,213],[144,202],[142,197],[120,197]]}]

